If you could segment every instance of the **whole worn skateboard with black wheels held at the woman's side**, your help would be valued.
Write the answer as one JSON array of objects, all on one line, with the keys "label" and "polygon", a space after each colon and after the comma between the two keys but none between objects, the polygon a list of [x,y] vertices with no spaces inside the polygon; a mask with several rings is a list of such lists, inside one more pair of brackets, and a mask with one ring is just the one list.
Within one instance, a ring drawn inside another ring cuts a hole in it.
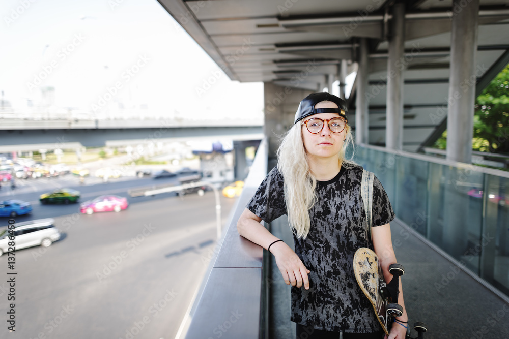
[{"label": "whole worn skateboard with black wheels held at the woman's side", "polygon": [[[353,271],[360,289],[373,305],[378,321],[385,332],[389,335],[390,326],[394,318],[403,314],[403,307],[398,304],[399,278],[405,273],[405,268],[400,264],[389,265],[391,281],[386,284],[378,256],[368,248],[358,249],[353,257]],[[427,332],[425,323],[414,323],[414,329],[418,333],[416,339],[422,339],[422,333]],[[407,339],[410,337],[410,328],[407,328]]]}]

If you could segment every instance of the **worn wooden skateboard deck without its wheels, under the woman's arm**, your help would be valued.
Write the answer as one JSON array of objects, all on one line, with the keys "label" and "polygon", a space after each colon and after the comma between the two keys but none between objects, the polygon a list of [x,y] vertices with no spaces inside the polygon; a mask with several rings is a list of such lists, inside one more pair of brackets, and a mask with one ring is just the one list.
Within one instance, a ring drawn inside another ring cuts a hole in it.
[{"label": "worn wooden skateboard deck without its wheels, under the woman's arm", "polygon": [[385,287],[385,281],[375,252],[368,248],[358,249],[353,259],[353,271],[360,289],[373,305],[383,330],[389,335],[392,317],[386,310],[387,301],[380,290]]}]

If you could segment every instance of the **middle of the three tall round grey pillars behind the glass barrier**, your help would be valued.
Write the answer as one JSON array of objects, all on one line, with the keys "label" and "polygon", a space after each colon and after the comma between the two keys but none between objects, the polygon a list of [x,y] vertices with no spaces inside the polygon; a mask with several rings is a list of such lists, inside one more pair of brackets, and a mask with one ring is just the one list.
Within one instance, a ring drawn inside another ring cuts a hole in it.
[{"label": "middle of the three tall round grey pillars behind the glass barrier", "polygon": [[385,121],[385,147],[403,148],[403,67],[405,57],[405,4],[392,6],[389,36],[389,59],[387,61],[387,119]]}]

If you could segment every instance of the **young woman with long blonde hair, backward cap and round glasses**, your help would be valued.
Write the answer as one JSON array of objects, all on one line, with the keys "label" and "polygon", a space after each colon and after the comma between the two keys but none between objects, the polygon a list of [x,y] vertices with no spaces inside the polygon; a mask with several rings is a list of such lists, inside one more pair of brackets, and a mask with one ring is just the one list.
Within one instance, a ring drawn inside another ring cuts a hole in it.
[{"label": "young woman with long blonde hair, backward cap and round glasses", "polygon": [[[383,330],[353,275],[353,255],[373,248],[386,281],[396,262],[389,222],[394,219],[382,184],[373,188],[372,238],[360,196],[362,168],[345,159],[353,143],[345,102],[328,93],[301,101],[295,124],[277,151],[278,162],[242,213],[240,235],[269,250],[286,284],[292,285],[291,320],[297,338],[382,338]],[[260,222],[287,214],[295,252]],[[400,285],[401,286],[401,285]],[[399,294],[403,306],[403,294]],[[389,339],[404,339],[407,314]],[[304,334],[306,333],[306,334]]]}]

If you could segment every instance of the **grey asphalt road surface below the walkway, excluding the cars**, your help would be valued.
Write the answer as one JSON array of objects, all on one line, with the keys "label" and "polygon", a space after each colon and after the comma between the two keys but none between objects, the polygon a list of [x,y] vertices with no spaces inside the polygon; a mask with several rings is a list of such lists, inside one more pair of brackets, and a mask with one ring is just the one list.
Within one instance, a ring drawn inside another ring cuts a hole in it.
[{"label": "grey asphalt road surface below the walkway, excluding the cars", "polygon": [[[119,213],[86,215],[79,204],[37,202],[50,186],[65,184],[49,181],[54,179],[39,181],[36,189],[0,193],[0,200],[33,202],[32,215],[16,222],[53,217],[64,233],[49,248],[17,251],[14,270],[8,269],[7,256],[0,257],[0,337],[173,339],[214,252],[214,194],[129,197],[130,206]],[[154,182],[164,181],[132,178],[73,188],[84,201],[106,193],[128,197],[128,189]],[[223,225],[234,204],[221,196]],[[7,218],[0,223],[7,224]],[[11,333],[8,271],[17,273]]]}]

